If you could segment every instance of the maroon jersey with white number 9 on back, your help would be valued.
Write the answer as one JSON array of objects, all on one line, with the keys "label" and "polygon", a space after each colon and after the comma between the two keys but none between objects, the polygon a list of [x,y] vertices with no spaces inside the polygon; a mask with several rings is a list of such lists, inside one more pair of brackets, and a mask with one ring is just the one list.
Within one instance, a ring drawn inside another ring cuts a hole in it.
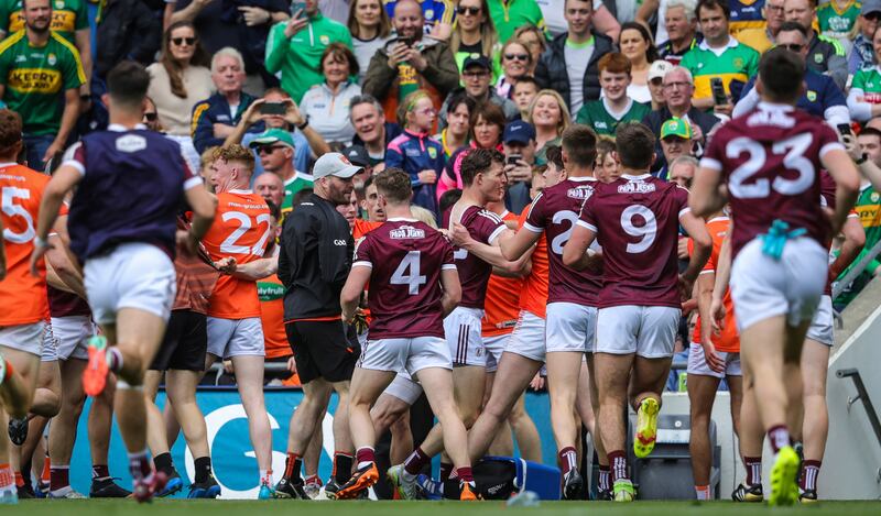
[{"label": "maroon jersey with white number 9 on back", "polygon": [[676,251],[686,211],[688,190],[649,174],[595,187],[578,226],[596,232],[602,245],[599,308],[682,306]]}]

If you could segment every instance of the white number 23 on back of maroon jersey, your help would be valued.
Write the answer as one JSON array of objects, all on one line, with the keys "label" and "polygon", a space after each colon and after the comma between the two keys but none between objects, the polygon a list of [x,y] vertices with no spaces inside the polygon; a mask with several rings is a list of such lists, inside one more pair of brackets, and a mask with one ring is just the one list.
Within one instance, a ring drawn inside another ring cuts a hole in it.
[{"label": "white number 23 on back of maroon jersey", "polygon": [[781,142],[775,142],[771,146],[772,154],[780,155],[785,153],[783,167],[797,172],[798,177],[786,179],[779,175],[773,183],[769,182],[768,178],[761,178],[747,185],[744,183],[764,167],[768,154],[764,146],[755,140],[746,136],[731,140],[725,150],[728,158],[735,160],[742,153],[747,153],[749,157],[731,173],[731,179],[728,183],[729,191],[741,199],[761,199],[771,194],[771,188],[777,194],[787,196],[798,195],[811,188],[811,185],[814,184],[816,171],[811,160],[805,157],[805,152],[811,146],[813,136],[809,133],[802,133]]}]

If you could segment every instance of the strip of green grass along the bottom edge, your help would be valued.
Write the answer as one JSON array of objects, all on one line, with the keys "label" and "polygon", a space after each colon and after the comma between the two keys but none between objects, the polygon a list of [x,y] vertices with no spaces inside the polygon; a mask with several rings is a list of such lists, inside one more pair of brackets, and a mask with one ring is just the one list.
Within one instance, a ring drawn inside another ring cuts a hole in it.
[{"label": "strip of green grass along the bottom edge", "polygon": [[292,501],[156,501],[139,505],[134,501],[22,501],[17,506],[0,505],[2,516],[729,516],[769,514],[771,516],[878,516],[881,502],[820,502],[811,506],[768,507],[732,502],[545,502],[539,507],[508,508],[502,502],[292,502]]}]

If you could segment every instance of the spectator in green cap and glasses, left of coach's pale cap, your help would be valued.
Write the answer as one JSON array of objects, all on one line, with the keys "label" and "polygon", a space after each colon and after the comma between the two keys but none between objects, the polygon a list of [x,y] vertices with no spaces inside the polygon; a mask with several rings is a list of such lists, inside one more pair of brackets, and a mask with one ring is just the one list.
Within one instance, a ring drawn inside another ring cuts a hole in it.
[{"label": "spectator in green cap and glasses, left of coach's pale cap", "polygon": [[269,129],[255,138],[251,149],[257,150],[263,169],[275,174],[284,183],[284,199],[281,202],[282,216],[293,209],[294,195],[312,188],[314,179],[311,175],[294,168],[294,141],[291,133],[282,129]]}]

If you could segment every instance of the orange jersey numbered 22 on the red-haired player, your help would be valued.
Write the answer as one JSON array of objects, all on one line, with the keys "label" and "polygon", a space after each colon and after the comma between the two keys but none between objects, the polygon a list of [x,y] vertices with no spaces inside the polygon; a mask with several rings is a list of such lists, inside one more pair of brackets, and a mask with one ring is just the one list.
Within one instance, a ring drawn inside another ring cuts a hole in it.
[{"label": "orange jersey numbered 22 on the red-haired player", "polygon": [[[217,195],[217,213],[203,239],[211,260],[233,257],[239,264],[263,256],[270,234],[267,201],[251,190]],[[208,315],[222,319],[260,317],[257,283],[222,275],[214,287]]]}]

